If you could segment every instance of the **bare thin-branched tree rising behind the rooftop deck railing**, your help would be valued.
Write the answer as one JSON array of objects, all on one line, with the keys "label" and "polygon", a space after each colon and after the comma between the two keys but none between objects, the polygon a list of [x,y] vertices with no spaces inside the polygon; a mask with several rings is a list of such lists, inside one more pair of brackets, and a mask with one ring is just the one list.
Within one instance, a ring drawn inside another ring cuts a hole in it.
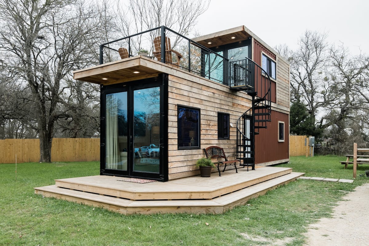
[{"label": "bare thin-branched tree rising behind the rooftop deck railing", "polygon": [[[117,24],[120,34],[127,37],[142,31],[165,25],[182,35],[188,35],[197,24],[197,18],[209,7],[210,0],[128,0],[126,3],[118,1]],[[152,40],[159,33],[151,33]],[[181,39],[175,36],[172,48]],[[140,38],[134,48],[139,49]]]}]

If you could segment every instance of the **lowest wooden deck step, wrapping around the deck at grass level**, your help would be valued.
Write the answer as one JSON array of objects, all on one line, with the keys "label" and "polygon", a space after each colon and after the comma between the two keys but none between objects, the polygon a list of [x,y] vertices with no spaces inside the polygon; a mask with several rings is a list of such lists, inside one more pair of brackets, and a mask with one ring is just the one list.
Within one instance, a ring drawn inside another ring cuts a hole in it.
[{"label": "lowest wooden deck step, wrapping around the deck at grass level", "polygon": [[247,188],[225,194],[211,200],[150,200],[132,201],[123,198],[88,193],[83,191],[60,188],[56,185],[35,188],[35,194],[45,197],[77,202],[94,207],[102,207],[121,214],[154,214],[154,213],[180,213],[192,214],[222,214],[225,211],[244,205],[251,198],[265,194],[282,184],[296,180],[304,173],[288,173]]}]

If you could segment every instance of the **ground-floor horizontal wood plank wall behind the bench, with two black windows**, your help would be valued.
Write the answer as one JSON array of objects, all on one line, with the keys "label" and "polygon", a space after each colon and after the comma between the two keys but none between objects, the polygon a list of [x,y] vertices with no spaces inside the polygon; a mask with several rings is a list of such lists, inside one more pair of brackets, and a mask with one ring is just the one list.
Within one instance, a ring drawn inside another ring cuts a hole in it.
[{"label": "ground-floor horizontal wood plank wall behind the bench, with two black windows", "polygon": [[[251,97],[246,93],[232,91],[217,83],[209,86],[169,75],[168,105],[168,168],[169,179],[199,174],[196,160],[204,157],[204,148],[217,145],[226,155],[235,153],[236,121],[249,107]],[[177,106],[200,108],[201,149],[178,150]],[[218,139],[218,112],[230,114],[230,139]]]}]

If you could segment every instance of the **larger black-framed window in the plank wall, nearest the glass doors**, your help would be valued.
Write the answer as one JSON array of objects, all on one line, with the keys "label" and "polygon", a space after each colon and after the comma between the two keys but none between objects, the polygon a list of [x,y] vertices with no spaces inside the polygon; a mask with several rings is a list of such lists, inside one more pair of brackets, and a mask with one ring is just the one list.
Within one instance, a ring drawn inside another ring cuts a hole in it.
[{"label": "larger black-framed window in the plank wall, nearest the glass doors", "polygon": [[200,148],[200,109],[178,106],[178,149]]}]

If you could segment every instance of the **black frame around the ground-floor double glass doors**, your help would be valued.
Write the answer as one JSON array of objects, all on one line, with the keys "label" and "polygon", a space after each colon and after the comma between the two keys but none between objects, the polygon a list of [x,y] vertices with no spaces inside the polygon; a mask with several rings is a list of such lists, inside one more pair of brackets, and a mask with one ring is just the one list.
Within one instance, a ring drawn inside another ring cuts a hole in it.
[{"label": "black frame around the ground-floor double glass doors", "polygon": [[[106,95],[127,91],[128,118],[133,115],[133,90],[160,87],[160,134],[159,134],[159,173],[134,171],[134,147],[130,136],[133,132],[133,120],[128,120],[128,150],[127,171],[106,169]],[[166,130],[165,130],[166,129]],[[135,80],[107,86],[100,86],[100,175],[152,179],[158,181],[168,180],[168,75],[160,74],[158,77]]]}]

